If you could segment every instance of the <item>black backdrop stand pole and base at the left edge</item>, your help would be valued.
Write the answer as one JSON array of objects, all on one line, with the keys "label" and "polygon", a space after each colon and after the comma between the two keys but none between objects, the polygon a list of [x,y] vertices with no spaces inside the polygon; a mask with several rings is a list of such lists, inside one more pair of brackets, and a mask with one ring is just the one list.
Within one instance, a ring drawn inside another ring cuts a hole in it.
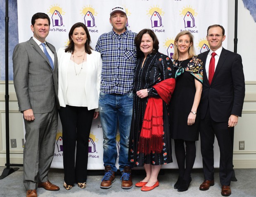
[{"label": "black backdrop stand pole and base at the left edge", "polygon": [[[2,172],[0,179],[12,174],[19,168],[10,168],[10,145],[9,145],[9,54],[8,54],[8,32],[9,32],[9,17],[8,17],[8,0],[5,1],[5,132],[6,132],[6,168]],[[16,165],[12,165],[16,166]],[[17,165],[18,166],[18,165]]]}]

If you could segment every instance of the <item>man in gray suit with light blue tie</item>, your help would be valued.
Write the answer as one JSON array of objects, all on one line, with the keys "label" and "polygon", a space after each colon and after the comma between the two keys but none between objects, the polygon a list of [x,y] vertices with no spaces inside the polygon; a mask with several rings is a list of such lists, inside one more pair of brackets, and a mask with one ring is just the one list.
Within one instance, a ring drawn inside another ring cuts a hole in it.
[{"label": "man in gray suit with light blue tie", "polygon": [[15,47],[12,59],[14,88],[26,129],[24,186],[27,197],[37,197],[37,188],[59,190],[47,177],[58,124],[58,62],[55,47],[45,42],[49,16],[34,14],[31,30],[33,37]]}]

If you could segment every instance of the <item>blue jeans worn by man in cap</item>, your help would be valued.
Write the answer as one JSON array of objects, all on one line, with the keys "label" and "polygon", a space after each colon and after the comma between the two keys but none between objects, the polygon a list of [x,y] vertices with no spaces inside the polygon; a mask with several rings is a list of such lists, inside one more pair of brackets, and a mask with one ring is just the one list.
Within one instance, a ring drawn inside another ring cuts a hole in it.
[{"label": "blue jeans worn by man in cap", "polygon": [[128,162],[128,148],[130,138],[130,124],[133,114],[133,93],[127,95],[106,94],[100,92],[99,100],[100,122],[103,130],[103,162],[104,166],[116,168],[116,131],[119,123],[120,151],[119,169],[130,166]]}]

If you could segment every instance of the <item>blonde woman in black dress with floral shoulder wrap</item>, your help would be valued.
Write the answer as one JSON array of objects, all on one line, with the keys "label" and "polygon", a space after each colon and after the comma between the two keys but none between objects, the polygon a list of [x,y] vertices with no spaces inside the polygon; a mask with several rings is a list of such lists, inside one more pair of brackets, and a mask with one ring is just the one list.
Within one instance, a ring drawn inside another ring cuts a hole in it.
[{"label": "blonde woman in black dress with floral shoulder wrap", "polygon": [[199,137],[200,120],[198,105],[203,83],[203,63],[195,56],[193,35],[189,31],[176,36],[173,59],[176,87],[170,106],[170,120],[179,167],[179,177],[174,188],[183,192],[192,180],[190,173],[196,158],[195,142]]}]

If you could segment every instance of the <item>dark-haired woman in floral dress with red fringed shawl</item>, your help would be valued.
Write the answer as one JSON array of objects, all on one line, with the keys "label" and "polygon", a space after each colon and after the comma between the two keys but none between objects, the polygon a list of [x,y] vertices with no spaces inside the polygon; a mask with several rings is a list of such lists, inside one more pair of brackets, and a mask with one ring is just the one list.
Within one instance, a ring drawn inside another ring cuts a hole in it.
[{"label": "dark-haired woman in floral dress with red fringed shawl", "polygon": [[135,186],[149,191],[159,185],[161,165],[173,161],[168,106],[175,79],[172,61],[158,52],[159,41],[152,30],[141,30],[135,45],[137,65],[129,160],[135,167],[144,166],[147,176]]}]

